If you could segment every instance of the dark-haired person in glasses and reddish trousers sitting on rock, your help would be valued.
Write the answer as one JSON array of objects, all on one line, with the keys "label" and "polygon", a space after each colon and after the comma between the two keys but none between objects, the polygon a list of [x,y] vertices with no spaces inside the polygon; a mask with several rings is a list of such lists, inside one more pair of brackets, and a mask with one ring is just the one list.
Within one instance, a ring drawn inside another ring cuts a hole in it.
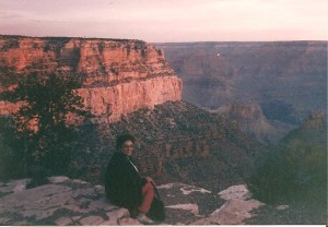
[{"label": "dark-haired person in glasses and reddish trousers sitting on rock", "polygon": [[117,136],[117,152],[106,169],[105,192],[110,202],[128,208],[131,216],[142,224],[154,224],[147,216],[154,199],[154,181],[150,177],[141,177],[131,160],[134,141],[130,134]]}]

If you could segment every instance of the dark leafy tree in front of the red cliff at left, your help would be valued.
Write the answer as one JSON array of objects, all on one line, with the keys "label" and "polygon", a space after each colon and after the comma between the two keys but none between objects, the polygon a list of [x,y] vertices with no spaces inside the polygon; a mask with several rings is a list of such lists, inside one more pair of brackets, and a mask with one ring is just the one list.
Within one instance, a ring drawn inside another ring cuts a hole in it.
[{"label": "dark leafy tree in front of the red cliff at left", "polygon": [[48,74],[33,72],[20,80],[14,89],[1,93],[1,99],[20,103],[13,113],[26,174],[35,184],[49,175],[63,174],[70,163],[70,151],[77,131],[67,123],[68,115],[87,117],[77,88],[82,80],[66,71]]}]

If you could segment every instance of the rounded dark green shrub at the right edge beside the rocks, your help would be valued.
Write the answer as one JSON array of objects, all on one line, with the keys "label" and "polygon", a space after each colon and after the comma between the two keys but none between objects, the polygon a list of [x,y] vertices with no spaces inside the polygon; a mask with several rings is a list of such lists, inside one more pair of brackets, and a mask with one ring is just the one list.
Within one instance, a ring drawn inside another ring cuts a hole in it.
[{"label": "rounded dark green shrub at the right edge beside the rocks", "polygon": [[267,203],[327,201],[326,146],[293,141],[268,152],[247,180],[254,196]]}]

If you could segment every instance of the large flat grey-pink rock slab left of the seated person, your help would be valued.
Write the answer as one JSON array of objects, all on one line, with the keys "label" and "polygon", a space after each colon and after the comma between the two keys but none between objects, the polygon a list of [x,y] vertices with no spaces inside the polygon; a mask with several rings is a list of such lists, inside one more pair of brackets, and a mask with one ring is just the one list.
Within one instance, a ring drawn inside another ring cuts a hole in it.
[{"label": "large flat grey-pink rock slab left of the seated person", "polygon": [[[0,225],[119,225],[132,224],[129,212],[110,204],[101,186],[67,177],[25,189],[28,180],[1,183]],[[15,190],[20,189],[20,190]]]}]

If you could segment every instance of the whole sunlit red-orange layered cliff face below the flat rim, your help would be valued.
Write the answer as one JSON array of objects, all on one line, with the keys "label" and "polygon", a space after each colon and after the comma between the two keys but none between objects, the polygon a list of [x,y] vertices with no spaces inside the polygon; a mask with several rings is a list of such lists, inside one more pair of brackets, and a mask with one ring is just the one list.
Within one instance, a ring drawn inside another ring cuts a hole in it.
[{"label": "whole sunlit red-orange layered cliff face below the flat rim", "polygon": [[[181,99],[181,81],[160,49],[140,40],[1,36],[0,67],[26,75],[63,69],[84,77],[79,94],[96,116],[116,121],[141,107]],[[16,106],[0,103],[0,113]]]}]

